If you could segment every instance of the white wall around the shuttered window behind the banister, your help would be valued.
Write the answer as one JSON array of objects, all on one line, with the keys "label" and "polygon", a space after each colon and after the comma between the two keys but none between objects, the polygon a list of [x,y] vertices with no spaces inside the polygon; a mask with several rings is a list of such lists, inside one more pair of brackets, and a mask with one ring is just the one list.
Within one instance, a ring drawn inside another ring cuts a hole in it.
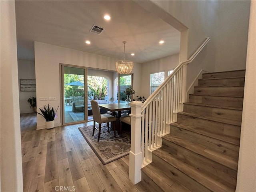
[{"label": "white wall around the shuttered window behind the banister", "polygon": [[150,96],[150,74],[164,71],[166,76],[167,72],[174,70],[179,64],[179,54],[174,54],[165,58],[157,59],[154,61],[146,62],[142,64],[142,73],[140,83],[143,84],[141,89],[136,91],[135,95]]}]

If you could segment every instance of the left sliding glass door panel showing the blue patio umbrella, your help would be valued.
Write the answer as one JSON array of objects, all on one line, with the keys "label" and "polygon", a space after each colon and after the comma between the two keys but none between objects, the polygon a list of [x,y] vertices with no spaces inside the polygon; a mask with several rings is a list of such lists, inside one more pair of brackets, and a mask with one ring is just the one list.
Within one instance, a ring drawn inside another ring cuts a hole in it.
[{"label": "left sliding glass door panel showing the blue patio umbrella", "polygon": [[62,124],[87,120],[85,77],[85,68],[62,65]]}]

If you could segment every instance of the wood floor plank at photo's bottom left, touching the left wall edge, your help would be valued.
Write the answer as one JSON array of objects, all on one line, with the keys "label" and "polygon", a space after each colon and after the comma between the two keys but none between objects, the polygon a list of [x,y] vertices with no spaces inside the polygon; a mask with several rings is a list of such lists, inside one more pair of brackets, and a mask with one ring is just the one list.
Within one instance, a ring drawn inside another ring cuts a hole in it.
[{"label": "wood floor plank at photo's bottom left, touching the left wall edge", "polygon": [[22,174],[23,174],[23,191],[28,191],[32,171],[34,169],[35,160],[27,161],[22,163]]}]

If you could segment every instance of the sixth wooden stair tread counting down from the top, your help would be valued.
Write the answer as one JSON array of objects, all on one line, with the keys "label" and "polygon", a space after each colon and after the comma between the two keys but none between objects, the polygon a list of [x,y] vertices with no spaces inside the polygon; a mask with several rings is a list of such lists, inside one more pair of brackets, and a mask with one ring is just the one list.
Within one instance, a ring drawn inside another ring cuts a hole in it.
[{"label": "sixth wooden stair tread counting down from the top", "polygon": [[194,114],[189,112],[178,112],[178,114],[191,116],[193,118],[195,117],[195,118],[201,118],[205,120],[210,120],[210,121],[215,121],[215,122],[220,122],[220,123],[225,123],[225,124],[230,124],[235,126],[241,126],[241,122],[236,120],[224,119],[220,117],[204,116],[204,115],[199,115],[199,114]]}]

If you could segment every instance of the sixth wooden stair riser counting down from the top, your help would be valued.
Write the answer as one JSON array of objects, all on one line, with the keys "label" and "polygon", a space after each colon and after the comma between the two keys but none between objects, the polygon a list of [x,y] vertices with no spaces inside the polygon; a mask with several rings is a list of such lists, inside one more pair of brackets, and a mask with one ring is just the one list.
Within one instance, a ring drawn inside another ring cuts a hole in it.
[{"label": "sixth wooden stair riser counting down from the top", "polygon": [[177,122],[182,123],[184,125],[198,126],[198,127],[204,128],[205,130],[209,130],[210,132],[240,138],[240,133],[241,133],[240,126],[224,124],[224,123],[205,120],[201,118],[194,118],[191,116],[186,116],[181,114],[178,114]]}]

